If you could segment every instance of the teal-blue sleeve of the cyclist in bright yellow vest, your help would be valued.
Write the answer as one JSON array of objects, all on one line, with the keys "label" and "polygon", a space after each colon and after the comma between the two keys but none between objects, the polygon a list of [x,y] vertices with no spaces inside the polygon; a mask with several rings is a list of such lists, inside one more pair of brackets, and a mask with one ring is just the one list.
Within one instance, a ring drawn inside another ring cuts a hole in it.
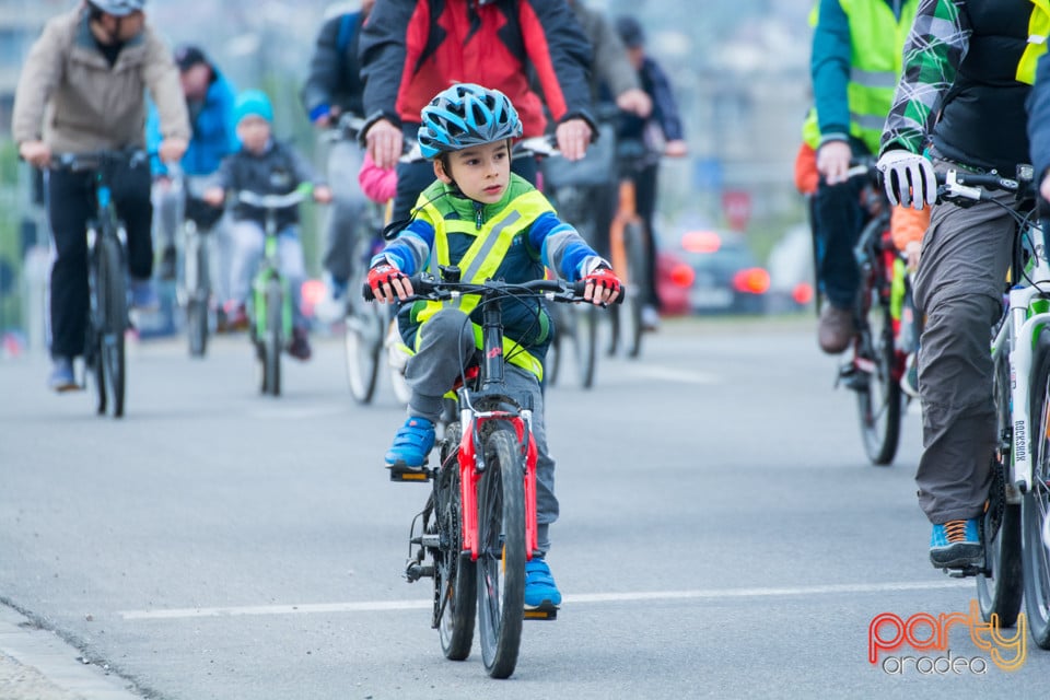
[{"label": "teal-blue sleeve of the cyclist in bright yellow vest", "polygon": [[820,136],[850,133],[850,20],[839,0],[820,0],[809,61]]}]

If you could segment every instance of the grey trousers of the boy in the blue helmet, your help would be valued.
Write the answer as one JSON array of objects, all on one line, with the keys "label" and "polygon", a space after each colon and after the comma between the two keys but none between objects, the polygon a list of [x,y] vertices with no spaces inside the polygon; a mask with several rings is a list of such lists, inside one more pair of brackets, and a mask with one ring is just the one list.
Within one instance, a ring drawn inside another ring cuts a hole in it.
[{"label": "grey trousers of the boy in the blue helmet", "polygon": [[[427,320],[420,331],[416,354],[408,360],[405,378],[412,390],[408,415],[432,421],[441,417],[442,397],[459,376],[460,359],[474,355],[474,330],[467,315],[457,308],[443,308]],[[539,524],[539,551],[550,549],[548,526],[558,520],[555,497],[555,460],[547,450],[544,422],[544,395],[532,372],[504,364],[509,394],[524,404],[532,396],[533,438],[536,440],[536,521]]]}]

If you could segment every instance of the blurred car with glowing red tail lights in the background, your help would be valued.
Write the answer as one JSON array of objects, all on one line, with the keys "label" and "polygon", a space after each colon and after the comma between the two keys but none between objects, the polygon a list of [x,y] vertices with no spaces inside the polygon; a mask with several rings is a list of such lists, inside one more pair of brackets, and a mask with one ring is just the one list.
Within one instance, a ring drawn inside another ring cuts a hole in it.
[{"label": "blurred car with glowing red tail lights in the background", "polygon": [[662,246],[656,266],[667,314],[766,312],[769,272],[738,234],[687,231]]}]

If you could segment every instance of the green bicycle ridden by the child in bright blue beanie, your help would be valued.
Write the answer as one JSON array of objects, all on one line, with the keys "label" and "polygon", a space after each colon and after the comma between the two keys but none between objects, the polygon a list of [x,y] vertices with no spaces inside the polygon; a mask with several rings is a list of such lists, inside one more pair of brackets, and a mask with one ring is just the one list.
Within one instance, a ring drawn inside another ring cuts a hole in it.
[{"label": "green bicycle ridden by the child in bright blue beanie", "polygon": [[235,194],[238,201],[266,211],[266,244],[262,264],[252,282],[248,327],[261,370],[259,389],[271,396],[281,394],[281,353],[292,338],[292,294],[278,259],[280,231],[277,214],[282,209],[298,207],[311,191],[313,188],[307,184],[285,195],[260,195],[248,190]]}]

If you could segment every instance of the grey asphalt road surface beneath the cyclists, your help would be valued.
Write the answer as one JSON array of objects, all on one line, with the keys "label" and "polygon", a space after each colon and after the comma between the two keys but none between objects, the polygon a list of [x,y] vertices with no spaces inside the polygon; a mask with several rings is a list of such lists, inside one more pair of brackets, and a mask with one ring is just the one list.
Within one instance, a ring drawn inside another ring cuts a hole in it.
[{"label": "grey asphalt road surface beneath the cyclists", "polygon": [[[171,700],[1045,697],[1050,654],[1022,638],[1003,670],[966,625],[868,662],[875,616],[966,612],[973,584],[926,560],[918,413],[870,466],[814,332],[670,323],[593,390],[549,389],[565,599],[510,680],[443,658],[429,583],[401,578],[427,487],[381,464],[402,409],[387,385],[354,405],[334,340],[279,399],[243,338],[137,345],[121,420],[48,394],[43,359],[0,362],[0,602]],[[887,673],[902,656],[930,661]]]}]

